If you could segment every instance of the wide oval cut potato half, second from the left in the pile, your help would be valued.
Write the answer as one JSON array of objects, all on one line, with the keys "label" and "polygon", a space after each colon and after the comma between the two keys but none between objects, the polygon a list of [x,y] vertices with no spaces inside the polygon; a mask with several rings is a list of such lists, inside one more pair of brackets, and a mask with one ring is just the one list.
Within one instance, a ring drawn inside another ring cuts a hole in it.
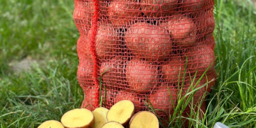
[{"label": "wide oval cut potato half, second from the left in the pile", "polygon": [[67,113],[65,113],[61,117],[61,123],[64,125],[64,127],[68,128],[90,128],[93,127],[95,123],[95,118],[93,116],[92,111],[88,109],[72,109],[70,111],[67,111]]}]

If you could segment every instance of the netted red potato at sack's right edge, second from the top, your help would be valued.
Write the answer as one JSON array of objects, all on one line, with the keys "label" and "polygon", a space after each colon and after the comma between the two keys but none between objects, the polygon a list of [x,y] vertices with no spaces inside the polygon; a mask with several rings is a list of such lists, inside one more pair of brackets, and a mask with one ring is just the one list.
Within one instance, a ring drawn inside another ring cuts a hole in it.
[{"label": "netted red potato at sack's right edge, second from the top", "polygon": [[215,28],[215,20],[212,12],[202,10],[195,17],[198,35],[205,36],[213,33]]}]

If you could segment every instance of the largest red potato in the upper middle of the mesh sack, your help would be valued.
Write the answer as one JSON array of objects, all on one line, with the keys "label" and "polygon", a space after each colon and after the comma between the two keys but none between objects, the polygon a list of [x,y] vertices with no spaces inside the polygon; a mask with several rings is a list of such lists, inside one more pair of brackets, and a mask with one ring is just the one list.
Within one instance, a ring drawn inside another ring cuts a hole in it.
[{"label": "largest red potato in the upper middle of the mesh sack", "polygon": [[168,32],[161,26],[137,22],[125,33],[125,44],[132,54],[148,61],[163,61],[172,51]]}]

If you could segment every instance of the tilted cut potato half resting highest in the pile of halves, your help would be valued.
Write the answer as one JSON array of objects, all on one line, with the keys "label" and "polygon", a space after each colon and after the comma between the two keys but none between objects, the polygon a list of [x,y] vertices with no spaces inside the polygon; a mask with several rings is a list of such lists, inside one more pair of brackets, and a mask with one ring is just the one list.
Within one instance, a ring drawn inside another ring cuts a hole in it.
[{"label": "tilted cut potato half resting highest in the pile of halves", "polygon": [[108,122],[114,121],[126,125],[134,115],[134,109],[134,104],[130,100],[116,102],[108,111]]}]

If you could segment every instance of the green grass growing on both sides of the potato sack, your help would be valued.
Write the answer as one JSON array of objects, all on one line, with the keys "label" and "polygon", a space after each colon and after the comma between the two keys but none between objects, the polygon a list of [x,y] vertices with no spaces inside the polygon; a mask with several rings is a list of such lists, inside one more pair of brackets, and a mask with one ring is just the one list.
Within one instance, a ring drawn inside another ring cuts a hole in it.
[{"label": "green grass growing on both sides of the potato sack", "polygon": [[[191,127],[256,127],[256,10],[248,1],[216,1],[218,82],[207,96],[205,120],[190,118]],[[79,108],[74,1],[0,0],[0,8],[0,127],[37,127]],[[24,58],[40,65],[13,72],[10,63]]]}]

